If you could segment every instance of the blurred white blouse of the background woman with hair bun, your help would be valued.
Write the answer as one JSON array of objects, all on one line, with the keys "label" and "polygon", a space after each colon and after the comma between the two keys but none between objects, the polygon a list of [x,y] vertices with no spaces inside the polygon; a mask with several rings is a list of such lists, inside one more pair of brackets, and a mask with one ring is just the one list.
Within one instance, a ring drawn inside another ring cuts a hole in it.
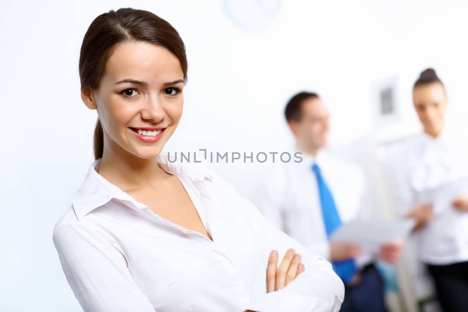
[{"label": "blurred white blouse of the background woman with hair bun", "polygon": [[[392,148],[385,163],[396,212],[433,203],[446,186],[468,179],[466,132],[447,125],[437,138],[426,133]],[[468,187],[460,195],[468,195]],[[455,198],[447,198],[450,203]],[[434,206],[434,209],[437,207]],[[447,265],[468,261],[468,212],[448,207],[415,233],[421,261]]]}]

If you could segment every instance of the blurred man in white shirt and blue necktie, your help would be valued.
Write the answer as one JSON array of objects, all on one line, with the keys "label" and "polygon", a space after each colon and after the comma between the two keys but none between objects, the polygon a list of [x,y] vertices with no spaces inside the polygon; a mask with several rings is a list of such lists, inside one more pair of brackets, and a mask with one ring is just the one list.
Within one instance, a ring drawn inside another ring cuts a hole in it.
[{"label": "blurred man in white shirt and blue necktie", "polygon": [[373,261],[379,257],[394,263],[401,255],[401,243],[379,248],[330,244],[331,234],[342,223],[372,217],[364,174],[324,150],[329,112],[317,94],[301,92],[293,96],[285,117],[302,161],[275,163],[273,172],[261,184],[257,207],[281,230],[332,262],[345,284],[340,311],[387,311],[382,279]]}]

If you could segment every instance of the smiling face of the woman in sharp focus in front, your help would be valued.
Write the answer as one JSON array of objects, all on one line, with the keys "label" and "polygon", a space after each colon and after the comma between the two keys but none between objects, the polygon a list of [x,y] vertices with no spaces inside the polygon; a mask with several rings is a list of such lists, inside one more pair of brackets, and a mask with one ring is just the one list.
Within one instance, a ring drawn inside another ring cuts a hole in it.
[{"label": "smiling face of the woman in sharp focus in front", "polygon": [[183,71],[167,49],[148,43],[118,44],[97,90],[83,101],[97,109],[104,154],[154,158],[176,130],[183,109]]}]

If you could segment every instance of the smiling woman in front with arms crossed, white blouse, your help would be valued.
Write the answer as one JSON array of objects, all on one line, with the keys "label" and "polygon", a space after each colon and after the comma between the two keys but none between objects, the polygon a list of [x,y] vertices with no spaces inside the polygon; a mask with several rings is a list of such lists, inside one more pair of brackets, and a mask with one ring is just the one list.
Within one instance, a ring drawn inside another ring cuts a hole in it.
[{"label": "smiling woman in front with arms crossed, white blouse", "polygon": [[176,29],[132,8],[99,15],[79,70],[98,113],[95,161],[53,241],[85,311],[339,310],[344,286],[329,262],[205,165],[161,154],[187,81]]}]

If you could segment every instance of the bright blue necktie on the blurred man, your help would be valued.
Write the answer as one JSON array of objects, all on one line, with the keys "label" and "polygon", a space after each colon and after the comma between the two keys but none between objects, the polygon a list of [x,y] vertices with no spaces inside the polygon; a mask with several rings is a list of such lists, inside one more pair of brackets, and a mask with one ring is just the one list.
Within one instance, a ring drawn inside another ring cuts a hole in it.
[{"label": "bright blue necktie on the blurred man", "polygon": [[[327,237],[330,239],[331,234],[340,227],[342,222],[340,216],[338,215],[338,211],[336,210],[333,196],[331,195],[325,180],[323,180],[320,168],[317,166],[317,164],[314,164],[312,166],[312,170],[314,170],[315,175],[317,176],[317,184],[320,193],[320,204],[322,206],[323,223],[325,224]],[[332,265],[336,274],[340,276],[345,283],[351,282],[357,271],[356,261],[354,259],[333,261]]]}]

